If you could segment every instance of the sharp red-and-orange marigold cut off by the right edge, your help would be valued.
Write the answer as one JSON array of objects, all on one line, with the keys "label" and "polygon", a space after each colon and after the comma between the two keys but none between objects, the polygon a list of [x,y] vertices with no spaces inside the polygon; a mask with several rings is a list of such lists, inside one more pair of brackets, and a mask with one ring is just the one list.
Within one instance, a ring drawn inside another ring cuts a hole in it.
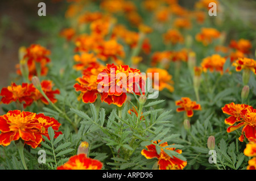
[{"label": "sharp red-and-orange marigold cut off by the right edge", "polygon": [[[239,140],[242,142],[244,138],[253,138],[256,139],[256,109],[246,104],[226,104],[222,111],[231,115],[228,119],[225,120],[226,124],[231,125],[227,128],[227,132],[233,132],[238,128],[242,128],[242,134],[239,137]],[[234,125],[234,123],[238,123]],[[245,134],[245,137],[244,135]]]}]

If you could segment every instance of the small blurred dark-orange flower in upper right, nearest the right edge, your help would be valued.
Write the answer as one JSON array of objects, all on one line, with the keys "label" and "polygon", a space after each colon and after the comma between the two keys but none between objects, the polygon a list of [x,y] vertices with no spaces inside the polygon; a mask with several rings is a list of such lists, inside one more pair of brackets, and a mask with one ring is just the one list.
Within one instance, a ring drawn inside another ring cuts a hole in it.
[{"label": "small blurred dark-orange flower in upper right, nearest the right edge", "polygon": [[230,48],[234,48],[242,53],[250,53],[250,49],[252,48],[251,42],[246,39],[240,39],[238,41],[231,40],[229,44]]}]

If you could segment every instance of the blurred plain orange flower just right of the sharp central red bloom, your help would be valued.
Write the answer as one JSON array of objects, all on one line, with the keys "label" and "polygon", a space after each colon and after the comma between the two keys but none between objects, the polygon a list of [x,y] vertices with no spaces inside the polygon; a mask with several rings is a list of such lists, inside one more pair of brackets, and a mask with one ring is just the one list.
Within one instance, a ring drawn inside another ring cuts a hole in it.
[{"label": "blurred plain orange flower just right of the sharp central red bloom", "polygon": [[[158,73],[155,74],[155,73]],[[146,70],[147,77],[152,80],[152,85],[154,89],[162,91],[164,88],[168,89],[170,92],[174,91],[174,81],[172,81],[172,75],[168,73],[165,69],[160,68],[148,68]],[[157,77],[158,76],[158,77]]]}]

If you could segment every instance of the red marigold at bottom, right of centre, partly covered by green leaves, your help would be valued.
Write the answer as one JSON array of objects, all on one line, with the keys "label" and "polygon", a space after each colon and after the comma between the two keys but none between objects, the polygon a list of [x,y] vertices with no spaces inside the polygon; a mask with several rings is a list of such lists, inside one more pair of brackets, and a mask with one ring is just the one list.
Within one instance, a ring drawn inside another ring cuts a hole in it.
[{"label": "red marigold at bottom, right of centre, partly covered by green leaves", "polygon": [[[158,140],[160,142],[160,140]],[[160,170],[183,170],[185,166],[187,166],[187,161],[183,161],[177,157],[170,157],[167,153],[164,152],[163,148],[168,146],[167,142],[160,144],[159,146],[163,147],[160,150],[160,153],[156,151],[156,145],[158,142],[154,141],[154,144],[146,146],[146,149],[141,151],[141,154],[147,159],[157,158],[158,165]],[[174,145],[174,144],[173,144]],[[176,151],[181,154],[182,150],[175,150],[175,148],[166,148],[167,150]]]}]

